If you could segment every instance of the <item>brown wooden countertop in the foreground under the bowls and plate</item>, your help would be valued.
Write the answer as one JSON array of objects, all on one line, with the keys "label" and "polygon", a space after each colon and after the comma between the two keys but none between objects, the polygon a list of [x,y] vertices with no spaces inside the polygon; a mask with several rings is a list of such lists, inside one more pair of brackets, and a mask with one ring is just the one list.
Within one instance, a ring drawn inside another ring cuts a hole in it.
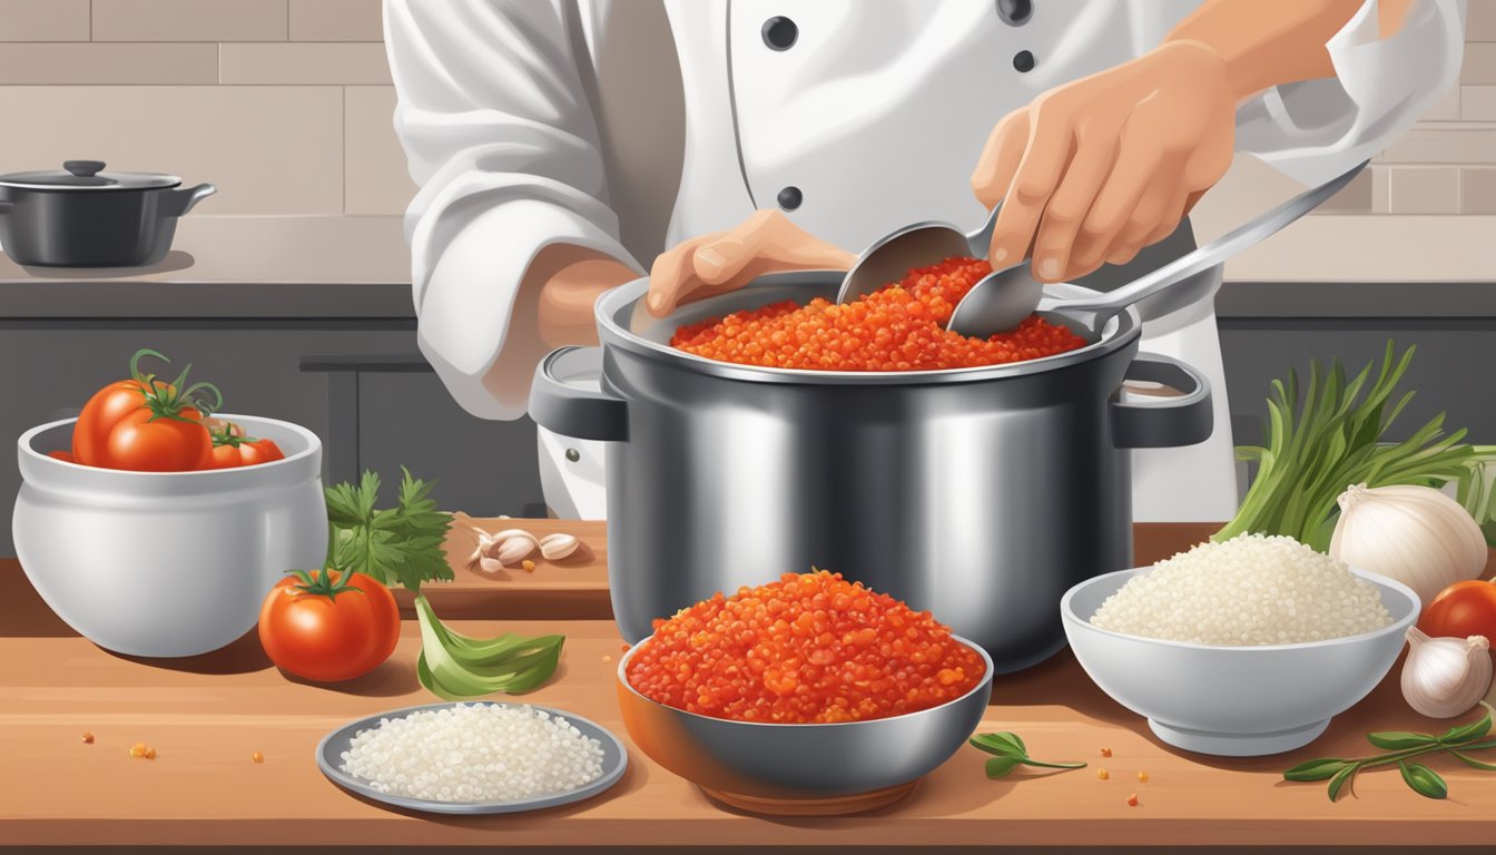
[{"label": "brown wooden countertop in the foreground under the bowls and plate", "polygon": [[[603,544],[598,523],[518,523],[562,526]],[[1210,530],[1143,526],[1138,560],[1171,554]],[[453,542],[453,551],[462,548]],[[1068,653],[999,677],[981,729],[1016,731],[1034,756],[1082,759],[1091,764],[1086,770],[1014,773],[993,782],[983,774],[984,755],[965,747],[907,800],[871,815],[764,819],[723,809],[633,749],[622,728],[613,699],[621,638],[595,614],[598,556],[574,566],[542,565],[534,575],[515,579],[465,578],[459,570],[462,585],[486,585],[489,602],[522,602],[530,617],[453,620],[453,627],[473,635],[564,632],[558,677],[527,699],[573,710],[630,746],[628,773],[600,797],[543,813],[486,818],[386,810],[329,783],[313,761],[317,740],[341,723],[432,701],[414,675],[414,621],[404,623],[387,663],[340,686],[287,678],[265,659],[253,633],[208,656],[138,660],[75,635],[46,609],[19,566],[0,560],[0,789],[6,792],[0,848],[926,849],[934,842],[1475,848],[1496,840],[1496,776],[1490,773],[1432,761],[1450,782],[1445,801],[1417,797],[1396,773],[1363,774],[1357,797],[1336,804],[1325,798],[1322,783],[1282,782],[1282,770],[1305,759],[1367,753],[1363,734],[1370,729],[1444,729],[1403,704],[1396,672],[1312,746],[1275,758],[1224,759],[1165,747],[1140,717],[1101,693]],[[589,620],[565,618],[570,600],[557,591],[567,585],[594,591],[576,600],[592,597],[582,606],[592,609],[585,615]],[[461,611],[462,597],[443,596],[447,611]],[[443,611],[440,602],[437,608]],[[94,744],[81,741],[84,731],[96,735]],[[154,746],[159,758],[129,758],[127,747],[136,741]],[[1112,749],[1112,758],[1100,756],[1103,747]],[[265,762],[251,762],[253,752],[262,752]],[[1110,771],[1110,780],[1097,779],[1098,767]],[[1138,771],[1150,776],[1147,783],[1138,783]],[[1137,794],[1137,807],[1128,807],[1129,794]]]}]

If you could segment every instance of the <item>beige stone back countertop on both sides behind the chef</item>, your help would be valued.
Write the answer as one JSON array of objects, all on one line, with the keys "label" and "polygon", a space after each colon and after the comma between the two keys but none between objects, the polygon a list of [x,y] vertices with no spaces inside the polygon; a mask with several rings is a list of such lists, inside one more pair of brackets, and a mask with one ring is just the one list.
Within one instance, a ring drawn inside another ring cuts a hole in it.
[{"label": "beige stone back countertop on both sides behind the chef", "polygon": [[[1216,234],[1213,223],[1200,228]],[[1222,317],[1496,317],[1496,216],[1310,216],[1227,267]],[[0,319],[413,317],[401,217],[184,217],[151,268],[22,268]]]}]

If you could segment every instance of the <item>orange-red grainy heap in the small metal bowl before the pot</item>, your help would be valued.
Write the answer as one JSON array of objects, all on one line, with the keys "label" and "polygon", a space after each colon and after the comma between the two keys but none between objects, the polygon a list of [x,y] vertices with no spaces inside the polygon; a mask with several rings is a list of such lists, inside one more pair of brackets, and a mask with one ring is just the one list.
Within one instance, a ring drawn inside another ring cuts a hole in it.
[{"label": "orange-red grainy heap in the small metal bowl before the pot", "polygon": [[803,725],[939,707],[984,671],[928,611],[815,570],[655,620],[625,674],[640,695],[676,710]]}]

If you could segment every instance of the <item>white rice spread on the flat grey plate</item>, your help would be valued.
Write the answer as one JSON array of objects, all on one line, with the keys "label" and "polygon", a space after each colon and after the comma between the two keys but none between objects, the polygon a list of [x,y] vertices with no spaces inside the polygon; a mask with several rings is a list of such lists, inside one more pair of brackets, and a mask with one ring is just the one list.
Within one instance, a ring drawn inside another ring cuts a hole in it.
[{"label": "white rice spread on the flat grey plate", "polygon": [[603,777],[603,744],[534,707],[458,704],[380,719],[341,755],[377,792],[425,801],[516,801]]}]

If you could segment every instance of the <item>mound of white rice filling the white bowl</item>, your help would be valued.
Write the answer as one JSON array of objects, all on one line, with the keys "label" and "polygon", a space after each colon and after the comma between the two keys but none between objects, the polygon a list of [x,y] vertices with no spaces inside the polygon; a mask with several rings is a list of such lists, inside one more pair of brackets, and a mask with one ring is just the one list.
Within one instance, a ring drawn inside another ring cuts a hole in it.
[{"label": "mound of white rice filling the white bowl", "polygon": [[1393,623],[1376,585],[1284,536],[1206,542],[1132,576],[1091,615],[1101,629],[1219,647],[1299,644]]}]

